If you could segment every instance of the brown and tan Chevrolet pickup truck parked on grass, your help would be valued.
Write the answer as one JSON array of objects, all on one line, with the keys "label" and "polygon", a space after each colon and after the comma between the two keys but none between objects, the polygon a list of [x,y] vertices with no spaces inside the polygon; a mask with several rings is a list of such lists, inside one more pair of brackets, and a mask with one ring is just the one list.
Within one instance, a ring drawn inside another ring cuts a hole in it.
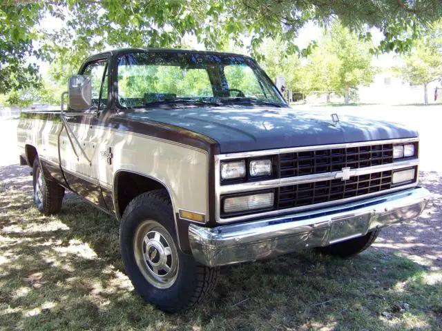
[{"label": "brown and tan Chevrolet pickup truck parked on grass", "polygon": [[418,132],[294,110],[250,57],[103,52],[61,101],[20,116],[35,205],[56,214],[70,190],[114,215],[128,277],[164,311],[201,303],[220,265],[351,257],[427,203]]}]

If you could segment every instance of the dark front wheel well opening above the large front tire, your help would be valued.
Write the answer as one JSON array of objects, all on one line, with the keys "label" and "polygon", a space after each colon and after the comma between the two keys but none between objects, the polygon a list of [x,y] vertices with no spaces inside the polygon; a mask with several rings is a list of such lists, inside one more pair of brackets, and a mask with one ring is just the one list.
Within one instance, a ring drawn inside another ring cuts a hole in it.
[{"label": "dark front wheel well opening above the large front tire", "polygon": [[122,217],[127,205],[138,195],[151,190],[158,190],[166,187],[149,177],[134,172],[118,172],[114,181],[115,210],[117,217]]}]

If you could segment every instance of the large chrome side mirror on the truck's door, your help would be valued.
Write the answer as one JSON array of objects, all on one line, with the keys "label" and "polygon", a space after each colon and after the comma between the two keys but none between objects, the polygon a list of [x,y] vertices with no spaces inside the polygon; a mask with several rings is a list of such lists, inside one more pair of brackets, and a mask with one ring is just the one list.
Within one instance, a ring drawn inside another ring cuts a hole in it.
[{"label": "large chrome side mirror on the truck's door", "polygon": [[77,74],[69,77],[69,108],[74,112],[88,110],[92,104],[92,85],[90,78]]}]

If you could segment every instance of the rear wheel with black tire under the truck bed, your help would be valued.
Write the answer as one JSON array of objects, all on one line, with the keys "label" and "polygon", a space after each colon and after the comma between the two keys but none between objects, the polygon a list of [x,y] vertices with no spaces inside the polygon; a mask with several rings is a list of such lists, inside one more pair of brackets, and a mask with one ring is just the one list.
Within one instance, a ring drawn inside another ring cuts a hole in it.
[{"label": "rear wheel with black tire under the truck bed", "polygon": [[63,203],[64,187],[55,181],[48,181],[44,178],[39,157],[35,157],[32,167],[32,184],[37,209],[45,215],[59,213]]}]

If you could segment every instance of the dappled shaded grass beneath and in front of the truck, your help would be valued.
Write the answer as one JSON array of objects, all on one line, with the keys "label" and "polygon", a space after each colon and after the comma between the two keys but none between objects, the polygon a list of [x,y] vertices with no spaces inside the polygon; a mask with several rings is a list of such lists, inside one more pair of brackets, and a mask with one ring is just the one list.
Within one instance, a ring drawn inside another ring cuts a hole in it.
[{"label": "dappled shaded grass beneath and in front of the truck", "polygon": [[165,314],[124,274],[118,226],[76,198],[44,217],[29,190],[0,186],[0,330],[442,328],[442,273],[376,250],[222,268],[204,305]]}]

